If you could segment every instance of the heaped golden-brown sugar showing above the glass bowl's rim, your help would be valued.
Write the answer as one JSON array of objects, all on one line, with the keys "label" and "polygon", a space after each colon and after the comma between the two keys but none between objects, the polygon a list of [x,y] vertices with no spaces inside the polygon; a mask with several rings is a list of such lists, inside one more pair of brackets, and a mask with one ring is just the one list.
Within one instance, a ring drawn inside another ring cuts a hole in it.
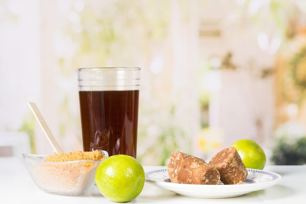
[{"label": "heaped golden-brown sugar showing above the glass bowl's rim", "polygon": [[103,160],[105,155],[99,150],[83,152],[75,151],[68,153],[57,153],[54,155],[47,156],[44,161],[46,162],[64,162],[64,161],[75,161],[75,160]]}]

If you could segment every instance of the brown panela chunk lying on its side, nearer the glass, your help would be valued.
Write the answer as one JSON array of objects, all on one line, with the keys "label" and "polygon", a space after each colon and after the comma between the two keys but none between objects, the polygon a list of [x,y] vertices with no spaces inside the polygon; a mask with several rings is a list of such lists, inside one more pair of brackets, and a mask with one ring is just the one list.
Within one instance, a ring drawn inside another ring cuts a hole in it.
[{"label": "brown panela chunk lying on its side, nearer the glass", "polygon": [[220,181],[219,171],[204,159],[178,151],[170,156],[168,174],[175,183],[217,185]]}]

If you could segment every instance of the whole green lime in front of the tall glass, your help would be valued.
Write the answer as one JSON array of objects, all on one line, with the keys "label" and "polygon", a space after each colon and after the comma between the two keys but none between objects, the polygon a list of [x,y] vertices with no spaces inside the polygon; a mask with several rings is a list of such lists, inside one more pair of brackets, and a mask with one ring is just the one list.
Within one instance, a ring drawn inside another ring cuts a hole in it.
[{"label": "whole green lime in front of the tall glass", "polygon": [[145,184],[142,165],[128,155],[113,155],[98,166],[95,182],[103,196],[123,203],[136,198]]}]

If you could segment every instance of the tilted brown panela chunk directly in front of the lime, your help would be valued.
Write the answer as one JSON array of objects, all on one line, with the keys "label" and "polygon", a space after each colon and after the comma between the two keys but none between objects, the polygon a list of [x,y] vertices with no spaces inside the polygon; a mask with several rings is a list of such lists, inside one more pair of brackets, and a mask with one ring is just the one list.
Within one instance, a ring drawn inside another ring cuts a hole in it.
[{"label": "tilted brown panela chunk directly in front of the lime", "polygon": [[247,177],[247,169],[235,147],[229,147],[218,152],[209,161],[209,165],[220,172],[220,180],[224,184],[240,184]]}]

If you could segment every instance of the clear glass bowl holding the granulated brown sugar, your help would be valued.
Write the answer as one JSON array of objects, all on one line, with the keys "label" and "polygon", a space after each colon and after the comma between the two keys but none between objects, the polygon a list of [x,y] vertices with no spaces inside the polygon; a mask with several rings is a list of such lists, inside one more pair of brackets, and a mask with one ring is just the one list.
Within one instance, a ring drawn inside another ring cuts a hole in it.
[{"label": "clear glass bowl holding the granulated brown sugar", "polygon": [[[105,158],[106,151],[101,151]],[[45,162],[47,155],[22,154],[35,184],[45,192],[77,196],[86,193],[95,183],[95,172],[102,160]]]}]

